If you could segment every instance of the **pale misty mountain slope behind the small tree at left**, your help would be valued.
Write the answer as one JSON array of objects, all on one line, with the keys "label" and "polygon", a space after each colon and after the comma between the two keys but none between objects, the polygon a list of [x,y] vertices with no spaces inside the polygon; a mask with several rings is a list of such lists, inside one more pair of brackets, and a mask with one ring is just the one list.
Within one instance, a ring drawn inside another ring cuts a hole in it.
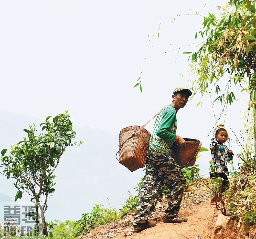
[{"label": "pale misty mountain slope behind the small tree at left", "polygon": [[[2,111],[1,115],[0,149],[7,148],[7,152],[12,144],[26,136],[23,129],[33,123],[39,125],[45,120],[6,111]],[[76,140],[81,139],[84,143],[79,147],[67,148],[61,157],[55,171],[56,192],[48,199],[47,221],[78,220],[82,212],[90,212],[94,204],[120,209],[120,204],[129,197],[128,191],[133,192],[144,176],[143,169],[130,172],[116,160],[118,134],[75,124],[73,129],[77,132]],[[3,175],[0,175],[0,179],[0,193],[14,200],[17,191],[14,180],[7,180]],[[29,202],[30,198],[29,195],[23,195],[19,200]]]}]

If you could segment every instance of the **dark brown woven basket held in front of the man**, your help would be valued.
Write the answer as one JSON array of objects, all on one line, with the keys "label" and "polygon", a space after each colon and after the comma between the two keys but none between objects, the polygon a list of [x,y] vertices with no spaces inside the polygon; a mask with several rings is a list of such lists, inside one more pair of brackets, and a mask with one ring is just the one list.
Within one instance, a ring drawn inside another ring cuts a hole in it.
[{"label": "dark brown woven basket held in front of the man", "polygon": [[201,148],[202,142],[196,139],[184,138],[185,147],[179,147],[177,142],[172,146],[174,160],[180,167],[193,166],[196,163],[196,156]]}]

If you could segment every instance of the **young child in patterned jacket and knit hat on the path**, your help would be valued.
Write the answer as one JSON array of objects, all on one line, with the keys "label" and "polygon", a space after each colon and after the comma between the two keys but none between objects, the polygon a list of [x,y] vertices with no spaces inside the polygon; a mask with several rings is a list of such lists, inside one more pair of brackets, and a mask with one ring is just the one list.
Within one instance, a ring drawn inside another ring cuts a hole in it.
[{"label": "young child in patterned jacket and knit hat on the path", "polygon": [[[210,143],[210,150],[211,150],[211,157],[214,166],[214,172],[210,171],[210,179],[213,183],[213,190],[216,190],[216,184],[220,182],[219,189],[221,192],[225,192],[229,187],[228,181],[228,168],[227,162],[233,159],[233,152],[229,150],[224,143],[229,139],[229,134],[227,129],[224,127],[224,124],[216,125],[217,128],[214,130],[214,138],[211,139]],[[229,157],[228,157],[229,156]],[[215,178],[215,179],[212,179]],[[221,179],[218,180],[218,178]],[[216,199],[216,200],[215,200]],[[212,192],[210,205],[216,205],[216,201],[220,201],[219,198],[215,198],[215,193]]]}]

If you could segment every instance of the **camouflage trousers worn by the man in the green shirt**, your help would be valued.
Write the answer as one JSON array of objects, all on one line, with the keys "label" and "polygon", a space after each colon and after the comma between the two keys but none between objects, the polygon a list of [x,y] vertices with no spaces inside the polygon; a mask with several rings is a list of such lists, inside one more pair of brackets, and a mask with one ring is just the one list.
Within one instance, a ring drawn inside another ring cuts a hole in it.
[{"label": "camouflage trousers worn by the man in the green shirt", "polygon": [[171,194],[164,217],[175,217],[179,212],[186,179],[170,154],[158,153],[151,147],[147,152],[147,168],[140,197],[136,206],[133,225],[151,218],[163,184]]}]

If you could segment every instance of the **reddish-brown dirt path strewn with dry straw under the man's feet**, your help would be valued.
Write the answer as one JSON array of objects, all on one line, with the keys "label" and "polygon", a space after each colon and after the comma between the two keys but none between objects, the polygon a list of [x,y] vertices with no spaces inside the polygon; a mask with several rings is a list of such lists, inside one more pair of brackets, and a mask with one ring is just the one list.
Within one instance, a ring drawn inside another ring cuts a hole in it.
[{"label": "reddish-brown dirt path strewn with dry straw under the man's feet", "polygon": [[132,227],[133,215],[128,215],[122,221],[105,225],[94,229],[85,238],[129,238],[129,239],[198,239],[202,238],[208,230],[212,221],[219,214],[215,206],[209,205],[210,190],[201,182],[188,188],[190,192],[185,192],[180,207],[179,216],[188,217],[188,222],[183,223],[163,223],[162,217],[167,199],[160,200],[152,219],[158,221],[153,228],[148,228],[139,233],[135,233]]}]

